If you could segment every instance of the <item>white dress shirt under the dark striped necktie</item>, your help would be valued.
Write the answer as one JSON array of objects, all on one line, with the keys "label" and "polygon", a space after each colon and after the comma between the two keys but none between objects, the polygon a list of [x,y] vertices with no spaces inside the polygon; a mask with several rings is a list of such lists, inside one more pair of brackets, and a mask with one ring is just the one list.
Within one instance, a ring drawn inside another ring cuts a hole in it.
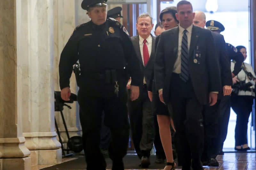
[{"label": "white dress shirt under the dark striped necktie", "polygon": [[[188,36],[188,51],[189,51],[189,47],[190,47],[192,27],[193,27],[193,24],[186,29],[188,31],[186,33],[187,36]],[[177,73],[177,74],[180,74],[180,72],[181,72],[181,42],[182,42],[182,37],[183,37],[183,31],[184,30],[185,29],[182,28],[179,24],[179,44],[178,44],[178,54],[177,54],[178,57],[177,57],[177,60],[175,61],[174,66],[173,66],[173,72]]]}]

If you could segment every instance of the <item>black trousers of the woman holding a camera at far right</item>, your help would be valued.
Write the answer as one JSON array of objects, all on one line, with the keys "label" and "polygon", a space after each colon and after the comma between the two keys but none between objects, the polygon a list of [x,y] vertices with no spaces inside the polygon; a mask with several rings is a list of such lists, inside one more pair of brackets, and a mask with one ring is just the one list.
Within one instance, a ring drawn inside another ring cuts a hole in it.
[{"label": "black trousers of the woman holding a camera at far right", "polygon": [[236,146],[248,144],[247,126],[252,112],[253,96],[231,96],[231,107],[236,113],[235,140]]}]

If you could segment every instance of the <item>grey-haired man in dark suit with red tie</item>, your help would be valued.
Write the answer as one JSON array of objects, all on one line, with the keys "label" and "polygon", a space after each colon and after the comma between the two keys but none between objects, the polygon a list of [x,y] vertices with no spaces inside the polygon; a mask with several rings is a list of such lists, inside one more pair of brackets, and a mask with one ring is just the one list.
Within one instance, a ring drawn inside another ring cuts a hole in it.
[{"label": "grey-haired man in dark suit with red tie", "polygon": [[154,24],[152,17],[141,14],[136,23],[139,35],[131,37],[133,47],[139,57],[140,71],[144,75],[138,100],[128,100],[128,112],[132,129],[132,140],[141,160],[141,166],[147,168],[154,142],[154,119],[151,102],[148,98],[147,82],[150,82],[155,55],[155,37],[150,34]]}]

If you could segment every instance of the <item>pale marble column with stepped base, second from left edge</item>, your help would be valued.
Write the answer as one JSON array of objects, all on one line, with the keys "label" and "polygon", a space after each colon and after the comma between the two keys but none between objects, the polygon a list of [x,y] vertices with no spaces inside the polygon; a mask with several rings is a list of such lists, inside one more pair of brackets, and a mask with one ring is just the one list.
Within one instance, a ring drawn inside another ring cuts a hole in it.
[{"label": "pale marble column with stepped base, second from left edge", "polygon": [[25,145],[31,152],[32,165],[57,164],[62,153],[54,124],[53,1],[19,2]]}]

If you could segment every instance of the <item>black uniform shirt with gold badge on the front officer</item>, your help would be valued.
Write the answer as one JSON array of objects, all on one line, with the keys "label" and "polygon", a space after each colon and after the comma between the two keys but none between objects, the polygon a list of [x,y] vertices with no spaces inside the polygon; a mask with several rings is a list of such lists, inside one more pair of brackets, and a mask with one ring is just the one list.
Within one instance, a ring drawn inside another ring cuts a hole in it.
[{"label": "black uniform shirt with gold badge on the front officer", "polygon": [[[69,87],[72,66],[77,60],[81,69],[80,89],[86,88],[87,78],[97,77],[94,73],[111,69],[125,68],[127,78],[132,77],[131,85],[139,86],[143,80],[131,38],[116,20],[107,19],[100,26],[89,21],[76,27],[60,55],[60,89]],[[91,86],[97,86],[96,81],[93,83]]]}]

